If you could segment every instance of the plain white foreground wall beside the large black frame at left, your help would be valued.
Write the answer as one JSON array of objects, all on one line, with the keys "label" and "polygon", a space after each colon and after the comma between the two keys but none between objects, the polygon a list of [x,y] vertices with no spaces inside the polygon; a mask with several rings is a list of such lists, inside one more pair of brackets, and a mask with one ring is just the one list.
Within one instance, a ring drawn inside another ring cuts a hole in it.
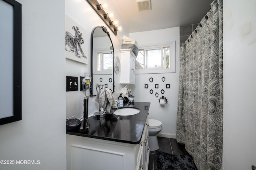
[{"label": "plain white foreground wall beside the large black frame at left", "polygon": [[65,1],[17,1],[22,4],[22,120],[0,126],[0,160],[15,161],[0,169],[64,170]]}]

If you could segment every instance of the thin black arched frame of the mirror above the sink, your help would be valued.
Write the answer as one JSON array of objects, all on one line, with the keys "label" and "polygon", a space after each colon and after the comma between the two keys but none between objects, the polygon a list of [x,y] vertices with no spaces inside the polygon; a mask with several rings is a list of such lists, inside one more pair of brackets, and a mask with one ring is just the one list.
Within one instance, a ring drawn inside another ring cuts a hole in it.
[{"label": "thin black arched frame of the mirror above the sink", "polygon": [[112,69],[112,75],[113,75],[113,91],[112,91],[112,93],[114,93],[115,92],[115,79],[114,79],[114,46],[113,46],[113,43],[112,43],[112,40],[111,40],[111,38],[110,38],[110,34],[109,34],[109,32],[108,32],[108,30],[107,30],[107,28],[106,27],[104,27],[104,26],[97,26],[97,27],[94,27],[94,29],[92,29],[92,34],[91,34],[91,83],[90,83],[90,96],[96,96],[96,95],[92,95],[92,88],[94,88],[94,87],[92,87],[92,82],[93,82],[93,33],[94,33],[94,30],[96,29],[96,28],[101,28],[103,31],[104,31],[104,33],[106,33],[107,35],[108,35],[108,37],[109,37],[109,39],[110,39],[110,42],[111,42],[111,44],[112,44],[112,50],[113,50],[113,69]]}]

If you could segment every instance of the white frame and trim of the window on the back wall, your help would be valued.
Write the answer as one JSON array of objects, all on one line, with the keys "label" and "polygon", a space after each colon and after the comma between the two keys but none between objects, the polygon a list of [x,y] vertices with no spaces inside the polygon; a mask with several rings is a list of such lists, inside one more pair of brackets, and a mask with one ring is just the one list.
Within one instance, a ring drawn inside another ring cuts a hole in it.
[{"label": "white frame and trim of the window on the back wall", "polygon": [[[163,47],[170,47],[170,54],[169,54],[169,62],[170,68],[144,68],[144,69],[136,69],[136,74],[158,74],[158,73],[172,73],[176,72],[176,50],[175,50],[175,41],[170,41],[167,43],[162,44],[148,44],[148,45],[140,45],[140,49],[144,50],[153,50],[159,49]],[[145,65],[145,56],[144,56],[144,65]]]}]

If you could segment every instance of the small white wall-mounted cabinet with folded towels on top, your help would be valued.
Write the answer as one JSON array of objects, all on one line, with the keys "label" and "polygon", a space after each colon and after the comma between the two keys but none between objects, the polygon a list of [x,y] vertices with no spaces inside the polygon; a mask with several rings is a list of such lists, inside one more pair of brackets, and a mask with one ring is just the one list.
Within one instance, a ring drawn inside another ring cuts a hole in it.
[{"label": "small white wall-mounted cabinet with folded towels on top", "polygon": [[120,84],[135,84],[136,56],[131,49],[120,50]]}]

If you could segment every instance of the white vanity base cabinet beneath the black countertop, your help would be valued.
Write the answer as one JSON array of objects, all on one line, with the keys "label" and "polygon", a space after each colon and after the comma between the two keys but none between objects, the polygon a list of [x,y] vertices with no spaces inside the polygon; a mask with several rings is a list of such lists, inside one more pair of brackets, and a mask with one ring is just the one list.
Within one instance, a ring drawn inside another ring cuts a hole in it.
[{"label": "white vanity base cabinet beneath the black countertop", "polygon": [[67,134],[67,170],[148,170],[148,116],[139,144]]}]

